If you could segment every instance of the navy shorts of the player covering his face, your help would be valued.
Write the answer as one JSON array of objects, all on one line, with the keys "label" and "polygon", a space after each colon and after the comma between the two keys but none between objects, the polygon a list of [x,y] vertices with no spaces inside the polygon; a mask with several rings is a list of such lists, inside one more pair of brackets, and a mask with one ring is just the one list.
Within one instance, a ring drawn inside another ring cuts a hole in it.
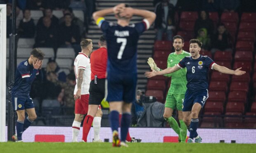
[{"label": "navy shorts of the player covering his face", "polygon": [[12,96],[12,106],[15,111],[31,109],[35,107],[31,97],[19,98],[15,96]]}]

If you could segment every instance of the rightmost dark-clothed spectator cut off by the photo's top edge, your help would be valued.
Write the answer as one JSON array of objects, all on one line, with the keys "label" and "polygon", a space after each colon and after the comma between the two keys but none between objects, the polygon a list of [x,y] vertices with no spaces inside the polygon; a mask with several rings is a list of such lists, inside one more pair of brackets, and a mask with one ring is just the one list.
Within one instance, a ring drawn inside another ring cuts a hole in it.
[{"label": "rightmost dark-clothed spectator cut off by the photo's top edge", "polygon": [[220,9],[223,12],[235,12],[239,5],[239,0],[221,0]]}]

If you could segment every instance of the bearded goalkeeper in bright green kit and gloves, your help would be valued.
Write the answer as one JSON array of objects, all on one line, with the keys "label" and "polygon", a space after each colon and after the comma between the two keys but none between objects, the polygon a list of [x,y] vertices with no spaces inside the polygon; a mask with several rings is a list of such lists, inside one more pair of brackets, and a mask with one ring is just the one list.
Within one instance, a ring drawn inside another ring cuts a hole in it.
[{"label": "bearded goalkeeper in bright green kit and gloves", "polygon": [[[190,53],[183,51],[182,47],[184,46],[183,37],[176,35],[173,37],[173,47],[175,49],[174,53],[171,53],[168,56],[167,67],[173,67],[177,65],[180,60],[182,60],[185,56],[190,56]],[[148,59],[149,66],[156,70],[161,71],[160,68],[156,66],[154,60],[152,58]],[[187,126],[183,122],[182,108],[183,108],[183,100],[185,97],[185,92],[187,90],[187,79],[186,79],[186,69],[181,69],[172,74],[166,74],[164,76],[171,77],[171,87],[168,90],[168,94],[166,96],[166,103],[164,109],[164,119],[169,123],[169,125],[173,128],[173,130],[178,134],[179,142],[186,142],[187,137]],[[173,110],[178,110],[178,119],[180,121],[180,127],[177,121],[172,117]]]}]

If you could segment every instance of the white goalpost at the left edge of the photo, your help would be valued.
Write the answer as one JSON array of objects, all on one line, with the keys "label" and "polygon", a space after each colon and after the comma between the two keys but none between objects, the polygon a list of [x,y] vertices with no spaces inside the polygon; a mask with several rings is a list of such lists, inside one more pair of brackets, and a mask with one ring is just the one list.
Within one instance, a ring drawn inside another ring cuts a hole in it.
[{"label": "white goalpost at the left edge of the photo", "polygon": [[0,5],[0,142],[5,142],[6,5]]}]

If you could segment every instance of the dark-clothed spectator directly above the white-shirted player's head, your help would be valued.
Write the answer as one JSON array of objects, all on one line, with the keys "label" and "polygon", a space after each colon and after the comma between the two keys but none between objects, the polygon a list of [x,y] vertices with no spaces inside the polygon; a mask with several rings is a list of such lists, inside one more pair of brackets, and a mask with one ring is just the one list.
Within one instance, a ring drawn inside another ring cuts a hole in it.
[{"label": "dark-clothed spectator directly above the white-shirted player's head", "polygon": [[79,27],[72,23],[71,14],[64,14],[65,22],[59,26],[59,44],[61,47],[72,47],[76,54],[81,51]]}]

